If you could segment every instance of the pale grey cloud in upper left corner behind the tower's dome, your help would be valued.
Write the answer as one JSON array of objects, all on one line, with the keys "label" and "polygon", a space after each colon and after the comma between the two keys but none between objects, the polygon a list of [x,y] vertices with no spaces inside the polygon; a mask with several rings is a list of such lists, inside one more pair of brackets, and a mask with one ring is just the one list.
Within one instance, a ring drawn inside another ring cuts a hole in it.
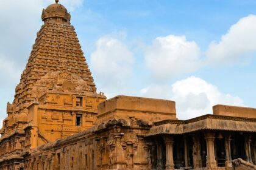
[{"label": "pale grey cloud in upper left corner behind the tower's dome", "polygon": [[[60,0],[70,9],[82,5],[83,0]],[[5,58],[22,67],[26,64],[36,33],[43,24],[42,9],[54,0],[1,0],[0,1],[0,52]]]}]

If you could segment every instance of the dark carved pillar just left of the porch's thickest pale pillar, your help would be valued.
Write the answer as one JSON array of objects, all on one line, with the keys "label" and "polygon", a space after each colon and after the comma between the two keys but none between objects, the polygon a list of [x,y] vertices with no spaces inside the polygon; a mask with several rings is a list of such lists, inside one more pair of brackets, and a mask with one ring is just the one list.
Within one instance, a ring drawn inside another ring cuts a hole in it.
[{"label": "dark carved pillar just left of the porch's thickest pale pillar", "polygon": [[194,134],[192,136],[193,140],[193,166],[194,169],[202,168],[202,157],[201,157],[201,143],[199,140],[199,135]]}]

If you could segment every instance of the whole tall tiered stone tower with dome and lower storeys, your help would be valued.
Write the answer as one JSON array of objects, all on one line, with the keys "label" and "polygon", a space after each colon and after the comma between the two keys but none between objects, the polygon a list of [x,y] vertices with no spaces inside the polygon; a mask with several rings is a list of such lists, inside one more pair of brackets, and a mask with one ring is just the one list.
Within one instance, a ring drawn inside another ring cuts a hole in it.
[{"label": "whole tall tiered stone tower with dome and lower storeys", "polygon": [[[55,1],[43,9],[44,22],[15,89],[0,129],[1,158],[16,161],[22,152],[85,131],[94,125],[97,94],[71,16]],[[10,155],[12,155],[10,157]]]}]

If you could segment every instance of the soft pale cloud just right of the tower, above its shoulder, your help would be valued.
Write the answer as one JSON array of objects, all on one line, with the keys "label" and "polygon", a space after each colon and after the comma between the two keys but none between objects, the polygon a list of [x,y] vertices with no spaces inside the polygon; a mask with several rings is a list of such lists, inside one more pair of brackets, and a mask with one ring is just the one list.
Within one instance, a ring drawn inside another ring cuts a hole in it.
[{"label": "soft pale cloud just right of the tower, above its shoulder", "polygon": [[91,68],[99,89],[108,97],[127,90],[127,79],[132,76],[133,53],[116,38],[104,36],[96,42],[91,54]]}]

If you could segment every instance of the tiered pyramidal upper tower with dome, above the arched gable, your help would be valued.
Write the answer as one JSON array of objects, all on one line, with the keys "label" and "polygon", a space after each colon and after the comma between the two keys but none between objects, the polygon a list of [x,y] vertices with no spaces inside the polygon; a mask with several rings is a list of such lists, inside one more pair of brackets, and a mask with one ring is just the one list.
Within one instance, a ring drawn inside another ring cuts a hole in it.
[{"label": "tiered pyramidal upper tower with dome, above the arched gable", "polygon": [[[33,91],[33,87],[39,80],[54,72],[66,72],[82,78],[84,92],[96,94],[93,77],[65,7],[61,4],[49,5],[43,10],[41,18],[44,24],[37,33],[26,69],[16,86],[13,104],[23,109],[24,105],[40,97],[40,92]],[[48,84],[51,85],[54,86]]]}]

